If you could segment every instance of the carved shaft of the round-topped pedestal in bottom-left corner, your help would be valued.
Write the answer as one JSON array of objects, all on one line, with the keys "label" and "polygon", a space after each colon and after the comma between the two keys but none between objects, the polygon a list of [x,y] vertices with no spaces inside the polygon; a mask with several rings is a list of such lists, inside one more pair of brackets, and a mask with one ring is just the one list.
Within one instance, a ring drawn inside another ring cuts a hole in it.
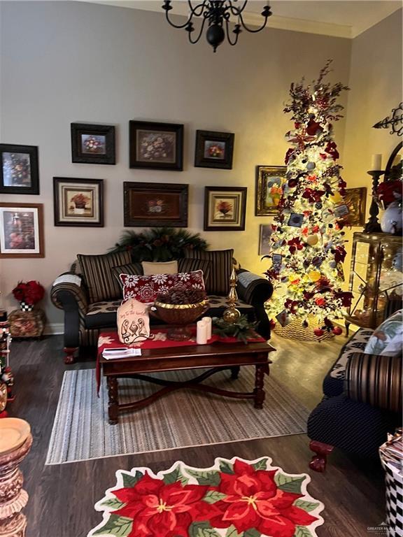
[{"label": "carved shaft of the round-topped pedestal in bottom-left corner", "polygon": [[[2,420],[7,422],[7,418]],[[23,420],[21,420],[23,422]],[[18,465],[31,449],[32,436],[20,447],[8,452],[0,451],[0,536],[24,537],[27,519],[21,510],[27,505],[28,494],[22,489],[22,473]]]}]

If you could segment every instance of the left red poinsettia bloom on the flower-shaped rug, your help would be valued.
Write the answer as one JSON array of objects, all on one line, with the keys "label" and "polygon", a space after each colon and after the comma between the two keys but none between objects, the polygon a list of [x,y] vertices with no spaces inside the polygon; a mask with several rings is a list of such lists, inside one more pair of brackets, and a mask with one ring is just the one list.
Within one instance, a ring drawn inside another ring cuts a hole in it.
[{"label": "left red poinsettia bloom on the flower-shaped rug", "polygon": [[188,537],[195,520],[208,520],[212,506],[201,501],[208,486],[165,485],[160,479],[145,474],[134,487],[114,490],[126,505],[113,515],[132,518],[132,531],[127,537]]}]

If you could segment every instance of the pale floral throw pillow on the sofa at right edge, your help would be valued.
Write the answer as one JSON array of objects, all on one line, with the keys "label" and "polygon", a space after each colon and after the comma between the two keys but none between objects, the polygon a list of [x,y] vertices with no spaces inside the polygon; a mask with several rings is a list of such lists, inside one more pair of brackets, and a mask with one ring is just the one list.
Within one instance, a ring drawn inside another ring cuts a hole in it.
[{"label": "pale floral throw pillow on the sofa at right edge", "polygon": [[396,356],[403,348],[403,310],[398,310],[383,321],[365,346],[365,354]]}]

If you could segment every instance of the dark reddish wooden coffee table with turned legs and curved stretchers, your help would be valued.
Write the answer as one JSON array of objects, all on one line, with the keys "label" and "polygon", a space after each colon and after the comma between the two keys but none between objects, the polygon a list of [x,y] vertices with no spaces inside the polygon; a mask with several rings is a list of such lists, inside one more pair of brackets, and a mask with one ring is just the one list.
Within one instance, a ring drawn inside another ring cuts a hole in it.
[{"label": "dark reddish wooden coffee table with turned legs and curved stretchers", "polygon": [[[262,408],[264,401],[264,375],[269,375],[269,352],[275,350],[266,342],[221,343],[207,345],[190,345],[185,347],[169,347],[141,349],[141,356],[106,360],[99,357],[108,385],[108,417],[109,423],[118,423],[119,413],[136,410],[153,403],[164,394],[176,389],[190,388],[201,392],[210,392],[235,399],[253,399],[255,408]],[[218,371],[229,369],[232,378],[237,378],[241,366],[255,366],[255,389],[253,392],[232,392],[213,386],[201,384],[203,380]],[[209,368],[201,375],[186,382],[175,382],[150,377],[145,373],[156,371],[178,371],[183,369]],[[162,385],[162,389],[145,399],[131,403],[119,403],[118,379],[137,378]]]}]

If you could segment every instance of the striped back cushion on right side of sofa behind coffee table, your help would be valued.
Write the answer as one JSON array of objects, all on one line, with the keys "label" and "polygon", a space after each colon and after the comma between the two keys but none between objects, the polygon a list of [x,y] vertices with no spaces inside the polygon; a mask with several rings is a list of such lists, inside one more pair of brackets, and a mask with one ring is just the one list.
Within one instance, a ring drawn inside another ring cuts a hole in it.
[{"label": "striped back cushion on right side of sofa behind coffee table", "polygon": [[232,272],[232,256],[234,250],[187,250],[185,258],[204,259],[211,262],[207,294],[227,295],[229,292],[229,277]]}]

